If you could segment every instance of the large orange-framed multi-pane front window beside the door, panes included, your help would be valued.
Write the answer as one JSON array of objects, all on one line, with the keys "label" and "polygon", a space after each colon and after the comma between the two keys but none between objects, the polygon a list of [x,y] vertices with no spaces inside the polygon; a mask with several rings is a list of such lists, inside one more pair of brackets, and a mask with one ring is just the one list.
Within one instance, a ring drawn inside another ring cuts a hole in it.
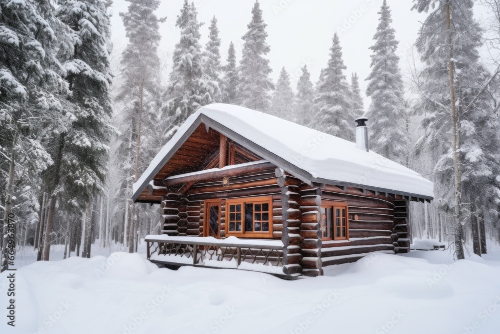
[{"label": "large orange-framed multi-pane front window beside the door, panes included", "polygon": [[272,237],[271,197],[227,199],[226,235]]}]

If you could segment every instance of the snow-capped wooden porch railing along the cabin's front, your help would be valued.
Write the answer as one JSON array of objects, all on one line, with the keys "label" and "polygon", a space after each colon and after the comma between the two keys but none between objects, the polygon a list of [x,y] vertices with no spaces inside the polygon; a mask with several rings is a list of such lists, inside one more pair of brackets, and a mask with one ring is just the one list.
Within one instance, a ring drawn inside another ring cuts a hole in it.
[{"label": "snow-capped wooden porch railing along the cabin's front", "polygon": [[[206,239],[211,239],[211,241]],[[252,244],[250,240],[227,242],[227,240],[203,237],[168,237],[165,239],[162,236],[147,236],[145,241],[147,259],[156,263],[241,268],[241,263],[246,262],[262,266],[244,265],[243,269],[266,272],[270,270],[263,269],[283,266],[283,246],[277,243],[275,245],[258,242]],[[283,274],[281,268],[271,271]]]}]

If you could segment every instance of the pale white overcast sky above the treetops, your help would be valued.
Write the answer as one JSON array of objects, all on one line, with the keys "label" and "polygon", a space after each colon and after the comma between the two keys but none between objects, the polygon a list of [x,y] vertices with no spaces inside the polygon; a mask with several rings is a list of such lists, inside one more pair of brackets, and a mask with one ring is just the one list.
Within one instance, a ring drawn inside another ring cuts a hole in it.
[{"label": "pale white overcast sky above the treetops", "polygon": [[[255,0],[194,0],[198,11],[198,21],[205,24],[200,28],[201,45],[208,40],[208,26],[215,15],[221,38],[220,53],[222,63],[227,58],[227,48],[232,41],[236,48],[239,62],[243,41],[241,37],[247,31],[251,20],[251,9]],[[156,11],[158,17],[167,17],[160,25],[162,36],[159,53],[166,60],[166,69],[170,70],[171,53],[179,40],[179,30],[175,20],[182,7],[183,0],[160,0]],[[350,82],[351,72],[357,72],[360,78],[361,92],[364,96],[366,82],[370,72],[370,47],[378,24],[378,14],[382,0],[259,0],[263,11],[263,20],[267,24],[267,43],[270,53],[267,55],[272,68],[271,77],[276,82],[281,67],[292,79],[295,90],[300,68],[307,64],[311,79],[315,83],[321,68],[329,58],[331,38],[337,32],[340,37],[343,61],[347,66],[345,75]],[[400,67],[406,68],[407,54],[411,50],[426,14],[410,11],[411,0],[387,0],[392,11],[392,28],[399,41],[398,55]],[[126,45],[125,31],[119,12],[126,12],[129,3],[115,0],[112,6],[112,40],[115,52],[121,52]],[[369,99],[365,98],[365,108]]]}]

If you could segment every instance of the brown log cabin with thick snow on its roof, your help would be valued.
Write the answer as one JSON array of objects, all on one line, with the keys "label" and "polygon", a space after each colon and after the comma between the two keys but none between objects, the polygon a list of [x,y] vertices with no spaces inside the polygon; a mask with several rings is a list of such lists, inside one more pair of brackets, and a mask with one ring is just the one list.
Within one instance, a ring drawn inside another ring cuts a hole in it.
[{"label": "brown log cabin with thick snow on its roof", "polygon": [[433,184],[356,142],[269,114],[201,107],[135,182],[135,202],[160,204],[157,264],[238,268],[284,277],[372,252],[409,251],[408,201],[433,199]]}]

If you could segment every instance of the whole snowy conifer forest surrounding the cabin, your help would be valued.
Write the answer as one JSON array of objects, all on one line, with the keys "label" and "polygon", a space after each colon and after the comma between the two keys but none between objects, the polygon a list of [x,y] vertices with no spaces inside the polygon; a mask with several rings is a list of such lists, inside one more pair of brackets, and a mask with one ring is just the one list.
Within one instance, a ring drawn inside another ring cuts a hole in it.
[{"label": "whole snowy conifer forest surrounding the cabin", "polygon": [[[56,244],[64,258],[115,245],[134,252],[159,233],[159,207],[132,203],[132,184],[189,115],[216,102],[349,141],[353,120],[366,116],[371,150],[434,182],[431,204],[411,203],[413,238],[454,243],[458,258],[500,242],[500,1],[413,0],[426,19],[403,69],[384,0],[376,31],[366,32],[367,78],[346,73],[349,41],[335,33],[319,77],[304,65],[295,87],[284,67],[277,82],[270,77],[267,55],[279,45],[266,42],[258,1],[239,61],[239,41],[220,50],[219,13],[201,23],[187,0],[166,13],[180,31],[168,75],[160,2],[127,2],[119,14],[127,44],[117,55],[110,0],[0,0],[2,235],[14,217],[18,245],[37,249],[38,260]],[[474,19],[477,7],[489,16]]]}]

